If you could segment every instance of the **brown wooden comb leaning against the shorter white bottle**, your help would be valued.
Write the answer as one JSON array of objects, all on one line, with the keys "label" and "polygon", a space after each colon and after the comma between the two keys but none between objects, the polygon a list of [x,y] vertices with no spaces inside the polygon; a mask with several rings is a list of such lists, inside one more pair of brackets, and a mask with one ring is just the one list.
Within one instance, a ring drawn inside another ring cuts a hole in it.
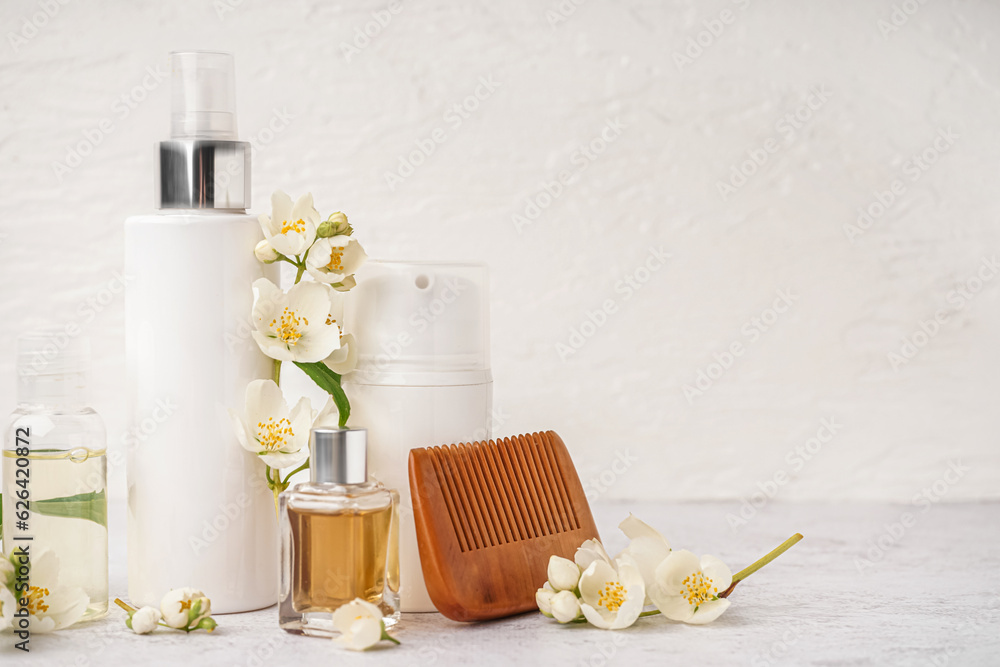
[{"label": "brown wooden comb leaning against the shorter white bottle", "polygon": [[424,581],[454,621],[537,609],[553,554],[599,539],[562,439],[553,431],[410,451],[410,494]]}]

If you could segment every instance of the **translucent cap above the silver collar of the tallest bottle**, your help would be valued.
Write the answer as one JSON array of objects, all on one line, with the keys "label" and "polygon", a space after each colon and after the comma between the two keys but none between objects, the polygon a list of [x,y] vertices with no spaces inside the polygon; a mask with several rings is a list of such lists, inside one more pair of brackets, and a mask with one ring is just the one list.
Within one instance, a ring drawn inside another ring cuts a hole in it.
[{"label": "translucent cap above the silver collar of the tallest bottle", "polygon": [[170,54],[170,137],[236,141],[236,67],[231,53]]}]

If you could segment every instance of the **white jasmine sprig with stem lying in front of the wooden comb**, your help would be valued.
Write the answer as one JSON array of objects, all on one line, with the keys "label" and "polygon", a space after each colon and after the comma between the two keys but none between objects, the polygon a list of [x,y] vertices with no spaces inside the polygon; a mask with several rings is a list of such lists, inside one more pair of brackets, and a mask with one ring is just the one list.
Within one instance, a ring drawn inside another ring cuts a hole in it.
[{"label": "white jasmine sprig with stem lying in front of the wooden comb", "polygon": [[[802,539],[796,534],[750,567],[733,575],[715,556],[673,551],[653,527],[631,514],[619,528],[628,547],[611,558],[597,540],[587,540],[573,560],[552,556],[548,581],[535,593],[541,613],[559,623],[589,622],[605,630],[631,626],[640,616],[703,624],[729,607],[737,582]],[[653,608],[643,611],[647,606]]]}]

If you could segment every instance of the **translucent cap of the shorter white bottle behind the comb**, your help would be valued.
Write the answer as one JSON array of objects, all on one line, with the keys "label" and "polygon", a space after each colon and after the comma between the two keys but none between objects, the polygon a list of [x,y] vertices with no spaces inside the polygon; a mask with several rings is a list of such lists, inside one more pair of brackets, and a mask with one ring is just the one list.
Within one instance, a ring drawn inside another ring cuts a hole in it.
[{"label": "translucent cap of the shorter white bottle behind the comb", "polygon": [[368,262],[348,292],[345,329],[362,384],[476,384],[490,380],[485,264]]}]

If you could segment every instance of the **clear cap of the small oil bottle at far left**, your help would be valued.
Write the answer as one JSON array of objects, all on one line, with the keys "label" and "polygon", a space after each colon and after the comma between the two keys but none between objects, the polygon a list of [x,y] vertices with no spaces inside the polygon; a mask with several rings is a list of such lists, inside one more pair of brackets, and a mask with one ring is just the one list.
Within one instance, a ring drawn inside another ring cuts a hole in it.
[{"label": "clear cap of the small oil bottle at far left", "polygon": [[69,327],[50,327],[17,339],[18,398],[22,402],[82,400],[90,370],[90,341]]}]

